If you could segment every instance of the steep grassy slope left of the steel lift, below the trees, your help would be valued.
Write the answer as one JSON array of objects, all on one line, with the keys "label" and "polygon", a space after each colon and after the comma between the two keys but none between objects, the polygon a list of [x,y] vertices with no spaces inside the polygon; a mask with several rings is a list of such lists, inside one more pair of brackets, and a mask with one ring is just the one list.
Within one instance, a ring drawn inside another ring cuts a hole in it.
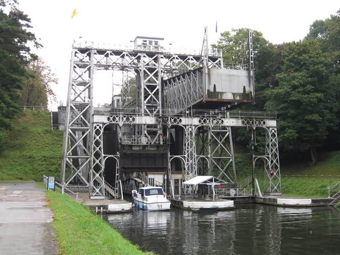
[{"label": "steep grassy slope left of the steel lift, below the trees", "polygon": [[13,123],[0,155],[0,180],[59,179],[63,132],[52,130],[51,113],[26,110]]}]

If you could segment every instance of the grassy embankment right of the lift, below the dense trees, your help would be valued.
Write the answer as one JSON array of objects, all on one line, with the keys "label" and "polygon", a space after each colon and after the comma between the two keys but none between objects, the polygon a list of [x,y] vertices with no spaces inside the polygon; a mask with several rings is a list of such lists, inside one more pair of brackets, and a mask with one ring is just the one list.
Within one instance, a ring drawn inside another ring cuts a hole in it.
[{"label": "grassy embankment right of the lift, below the dense trees", "polygon": [[[242,150],[241,152],[241,154],[235,156],[239,183],[252,174],[249,151]],[[283,195],[328,196],[327,188],[333,187],[340,181],[340,151],[320,152],[319,156],[320,159],[316,165],[310,165],[306,162],[280,162],[281,191]],[[263,164],[260,160],[258,163]],[[263,165],[256,167],[255,175],[263,192]]]}]

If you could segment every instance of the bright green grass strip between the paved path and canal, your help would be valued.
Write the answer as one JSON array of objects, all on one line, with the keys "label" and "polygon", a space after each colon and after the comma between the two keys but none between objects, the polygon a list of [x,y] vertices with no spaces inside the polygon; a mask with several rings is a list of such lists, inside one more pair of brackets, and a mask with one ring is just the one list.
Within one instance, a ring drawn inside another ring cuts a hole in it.
[{"label": "bright green grass strip between the paved path and canal", "polygon": [[59,254],[154,254],[142,252],[93,212],[59,191],[47,191]]}]

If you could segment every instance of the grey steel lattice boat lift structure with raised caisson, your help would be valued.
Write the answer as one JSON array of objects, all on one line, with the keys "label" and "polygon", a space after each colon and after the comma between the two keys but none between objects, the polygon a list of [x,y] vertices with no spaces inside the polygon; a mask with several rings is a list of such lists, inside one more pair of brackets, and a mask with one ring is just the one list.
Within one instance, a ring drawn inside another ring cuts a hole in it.
[{"label": "grey steel lattice boat lift structure with raised caisson", "polygon": [[[267,162],[265,173],[269,185],[266,192],[279,194],[280,169],[273,113],[195,109],[201,103],[211,103],[211,107],[213,103],[222,102],[228,106],[253,100],[251,32],[249,38],[249,66],[238,65],[236,68],[226,67],[221,53],[208,48],[206,30],[205,46],[200,53],[194,54],[167,52],[159,44],[162,38],[152,37],[136,37],[134,48],[74,43],[61,166],[63,189],[88,188],[91,198],[104,197],[110,190],[104,180],[105,162],[112,158],[115,161],[115,182],[111,196],[117,197],[117,183],[124,168],[122,164],[126,164],[122,161],[122,154],[129,149],[130,152],[136,149],[139,152],[164,152],[169,178],[172,170],[180,168],[184,181],[198,174],[217,172],[220,177],[226,177],[230,183],[236,184],[231,127],[251,126],[253,129],[264,127],[268,131],[266,154],[257,158]],[[94,109],[95,70],[135,72],[136,97],[122,95],[122,98],[126,98],[123,102],[125,107],[122,108],[101,109],[101,112]],[[240,72],[235,73],[235,70]],[[246,85],[236,88],[230,79],[216,78],[228,74],[232,80],[238,79]],[[162,80],[166,81],[162,83]],[[174,82],[176,80],[179,82]],[[223,84],[228,84],[231,91],[225,90]],[[112,124],[116,126],[114,130],[118,147],[125,149],[119,148],[107,154],[104,153],[103,134],[105,127]],[[124,133],[127,126],[131,127],[131,133]],[[133,156],[126,159],[132,160]],[[178,162],[175,164],[176,160]],[[230,165],[232,170],[228,169]],[[134,169],[133,165],[131,167],[129,171]],[[270,174],[270,169],[275,170],[275,175]],[[183,192],[189,192],[188,188],[185,187]]]}]

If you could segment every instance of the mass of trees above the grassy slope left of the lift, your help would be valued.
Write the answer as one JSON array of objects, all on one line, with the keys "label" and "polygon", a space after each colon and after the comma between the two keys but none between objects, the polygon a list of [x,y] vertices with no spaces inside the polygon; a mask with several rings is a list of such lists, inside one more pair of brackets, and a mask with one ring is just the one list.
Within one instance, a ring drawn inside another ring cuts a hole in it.
[{"label": "mass of trees above the grassy slope left of the lift", "polygon": [[32,53],[29,45],[42,45],[30,32],[31,19],[17,5],[16,0],[0,0],[0,151],[20,106],[47,106],[48,97],[54,98],[50,85],[57,83],[50,68]]}]

